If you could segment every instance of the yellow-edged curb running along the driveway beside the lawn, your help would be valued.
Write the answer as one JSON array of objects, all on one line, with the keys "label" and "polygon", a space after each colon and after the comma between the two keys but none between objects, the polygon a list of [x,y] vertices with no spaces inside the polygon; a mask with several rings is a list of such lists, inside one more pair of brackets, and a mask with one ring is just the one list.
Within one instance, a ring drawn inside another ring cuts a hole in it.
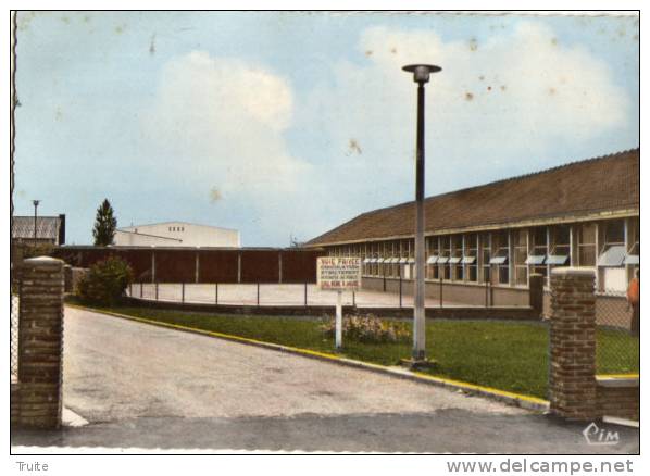
[{"label": "yellow-edged curb running along the driveway beside the lawn", "polygon": [[436,387],[443,387],[443,388],[452,389],[452,390],[461,390],[468,394],[477,394],[480,397],[486,397],[488,399],[497,400],[502,403],[507,403],[507,404],[510,404],[513,406],[518,406],[518,408],[522,408],[525,410],[532,410],[532,411],[536,411],[536,412],[547,412],[549,410],[549,402],[547,400],[543,400],[543,399],[540,399],[537,397],[514,393],[514,392],[507,391],[507,390],[499,390],[497,388],[484,387],[480,385],[468,384],[465,381],[453,380],[450,378],[434,377],[432,375],[424,374],[422,372],[412,372],[412,371],[409,371],[405,368],[400,368],[400,367],[387,367],[385,365],[371,364],[367,362],[361,362],[361,361],[357,361],[357,360],[352,360],[352,359],[341,358],[341,356],[333,354],[333,353],[318,352],[315,350],[300,349],[297,347],[265,342],[263,340],[255,340],[255,339],[249,339],[247,337],[232,336],[229,334],[222,334],[222,333],[216,333],[216,331],[212,331],[212,330],[197,329],[195,327],[186,327],[186,326],[182,326],[178,324],[168,324],[168,323],[163,323],[161,321],[153,321],[153,320],[148,320],[148,318],[143,318],[143,317],[136,317],[136,316],[130,316],[127,314],[120,314],[120,313],[111,312],[111,311],[99,311],[99,310],[95,310],[91,308],[85,308],[85,306],[78,305],[78,304],[67,304],[66,303],[65,305],[68,308],[72,308],[72,309],[95,312],[98,314],[105,314],[105,315],[120,317],[120,318],[124,318],[124,320],[128,320],[128,321],[134,321],[134,322],[142,323],[142,324],[150,324],[150,325],[154,325],[154,326],[159,326],[159,327],[166,327],[166,328],[182,330],[182,331],[186,331],[186,333],[192,333],[192,334],[199,334],[199,335],[209,336],[209,337],[215,337],[218,339],[245,343],[248,346],[261,347],[261,348],[276,350],[276,351],[280,351],[280,352],[287,352],[287,353],[291,353],[291,354],[296,354],[296,355],[302,355],[305,358],[316,359],[316,360],[329,362],[333,364],[345,365],[348,367],[361,368],[361,369],[374,372],[377,374],[388,375],[393,378],[402,378],[405,380],[416,381],[420,384],[427,384],[427,385],[433,385]]}]

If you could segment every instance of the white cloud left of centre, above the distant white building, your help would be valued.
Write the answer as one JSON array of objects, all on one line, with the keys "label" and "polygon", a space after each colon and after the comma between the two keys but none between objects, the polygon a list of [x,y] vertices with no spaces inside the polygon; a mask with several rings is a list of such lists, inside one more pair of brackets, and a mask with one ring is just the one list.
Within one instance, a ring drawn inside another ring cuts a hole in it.
[{"label": "white cloud left of centre, above the distant white building", "polygon": [[145,114],[157,165],[188,183],[216,187],[224,200],[290,191],[308,171],[291,156],[283,133],[293,97],[276,74],[239,60],[191,52],[171,61]]}]

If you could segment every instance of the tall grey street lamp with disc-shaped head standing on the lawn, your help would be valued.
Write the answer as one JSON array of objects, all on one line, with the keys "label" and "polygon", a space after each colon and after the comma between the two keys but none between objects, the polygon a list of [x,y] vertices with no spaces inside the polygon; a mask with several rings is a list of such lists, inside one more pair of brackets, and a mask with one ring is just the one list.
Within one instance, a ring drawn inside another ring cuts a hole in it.
[{"label": "tall grey street lamp with disc-shaped head standing on the lawn", "polygon": [[403,71],[413,73],[417,83],[417,138],[415,156],[415,302],[413,306],[413,359],[412,365],[423,364],[425,354],[424,312],[424,85],[429,75],[442,71],[433,64],[409,64]]}]

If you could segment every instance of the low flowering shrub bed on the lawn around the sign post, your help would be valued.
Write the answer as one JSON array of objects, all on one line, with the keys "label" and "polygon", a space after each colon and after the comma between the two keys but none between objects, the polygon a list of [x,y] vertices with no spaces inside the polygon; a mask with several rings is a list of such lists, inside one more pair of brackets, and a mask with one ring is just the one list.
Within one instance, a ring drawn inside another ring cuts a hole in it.
[{"label": "low flowering shrub bed on the lawn around the sign post", "polygon": [[[404,342],[411,335],[405,323],[384,321],[373,314],[345,315],[342,324],[343,339],[364,343]],[[321,329],[327,337],[334,337],[336,320],[330,317]]]}]

